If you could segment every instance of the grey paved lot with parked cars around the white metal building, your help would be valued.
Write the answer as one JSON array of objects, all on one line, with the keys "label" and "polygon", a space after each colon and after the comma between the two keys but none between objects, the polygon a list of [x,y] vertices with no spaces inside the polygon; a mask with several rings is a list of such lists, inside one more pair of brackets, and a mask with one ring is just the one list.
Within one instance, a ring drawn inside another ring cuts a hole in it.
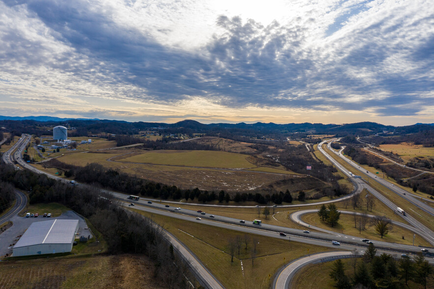
[{"label": "grey paved lot with parked cars around the white metal building", "polygon": [[6,254],[12,254],[13,245],[17,243],[20,236],[24,234],[30,224],[34,222],[49,221],[52,219],[79,220],[77,235],[86,237],[90,235],[90,237],[92,237],[90,230],[87,229],[86,221],[73,211],[67,211],[56,218],[44,218],[42,216],[37,218],[26,218],[14,216],[10,219],[14,225],[0,234],[0,257],[3,257]]}]

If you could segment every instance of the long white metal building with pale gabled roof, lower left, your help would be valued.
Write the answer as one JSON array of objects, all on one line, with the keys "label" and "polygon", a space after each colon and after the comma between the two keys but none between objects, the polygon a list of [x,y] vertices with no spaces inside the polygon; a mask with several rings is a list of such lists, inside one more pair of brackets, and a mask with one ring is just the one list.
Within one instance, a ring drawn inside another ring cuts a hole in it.
[{"label": "long white metal building with pale gabled roof, lower left", "polygon": [[13,247],[13,255],[29,256],[71,252],[78,220],[35,222]]}]

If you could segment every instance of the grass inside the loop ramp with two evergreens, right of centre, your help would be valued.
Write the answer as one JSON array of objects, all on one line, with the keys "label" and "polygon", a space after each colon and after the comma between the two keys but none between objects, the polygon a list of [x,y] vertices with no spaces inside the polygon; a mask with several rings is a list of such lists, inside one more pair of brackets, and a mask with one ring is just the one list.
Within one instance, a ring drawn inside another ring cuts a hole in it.
[{"label": "grass inside the loop ramp with two evergreens, right of centre", "polygon": [[[408,231],[402,227],[392,225],[392,230],[389,231],[387,235],[385,235],[382,239],[378,233],[376,233],[374,227],[369,227],[369,221],[367,222],[366,229],[359,233],[359,230],[354,228],[354,218],[349,214],[341,214],[341,218],[339,219],[339,224],[335,227],[329,226],[326,222],[322,221],[318,214],[311,213],[305,214],[301,216],[301,219],[308,224],[316,226],[321,229],[326,229],[329,231],[344,233],[351,236],[357,236],[361,239],[370,239],[377,241],[384,241],[389,243],[398,243],[405,245],[413,244],[413,232]],[[404,236],[405,239],[402,237]],[[414,240],[415,246],[423,246],[423,247],[431,247],[431,244],[427,242],[424,238],[416,234],[416,239]]]}]

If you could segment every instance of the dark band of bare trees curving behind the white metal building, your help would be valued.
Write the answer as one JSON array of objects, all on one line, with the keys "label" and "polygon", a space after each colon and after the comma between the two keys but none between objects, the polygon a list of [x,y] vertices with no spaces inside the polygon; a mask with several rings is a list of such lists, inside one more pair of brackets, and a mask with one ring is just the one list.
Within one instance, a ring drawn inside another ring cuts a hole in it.
[{"label": "dark band of bare trees curving behind the white metal building", "polygon": [[156,278],[170,288],[189,287],[185,279],[190,274],[188,266],[174,254],[161,227],[149,218],[121,208],[110,200],[110,195],[99,189],[68,185],[45,174],[16,171],[5,164],[0,165],[0,181],[0,192],[13,184],[29,191],[30,203],[58,202],[82,214],[103,234],[109,253],[145,254],[155,263]]}]

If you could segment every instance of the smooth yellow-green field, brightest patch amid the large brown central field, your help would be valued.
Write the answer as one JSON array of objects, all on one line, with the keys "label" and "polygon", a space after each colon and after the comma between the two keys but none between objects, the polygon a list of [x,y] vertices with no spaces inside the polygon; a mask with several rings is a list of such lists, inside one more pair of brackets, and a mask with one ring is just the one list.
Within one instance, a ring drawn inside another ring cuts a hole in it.
[{"label": "smooth yellow-green field, brightest patch amid the large brown central field", "polygon": [[246,169],[256,167],[249,156],[213,150],[153,150],[143,154],[117,158],[117,161],[205,168]]}]

